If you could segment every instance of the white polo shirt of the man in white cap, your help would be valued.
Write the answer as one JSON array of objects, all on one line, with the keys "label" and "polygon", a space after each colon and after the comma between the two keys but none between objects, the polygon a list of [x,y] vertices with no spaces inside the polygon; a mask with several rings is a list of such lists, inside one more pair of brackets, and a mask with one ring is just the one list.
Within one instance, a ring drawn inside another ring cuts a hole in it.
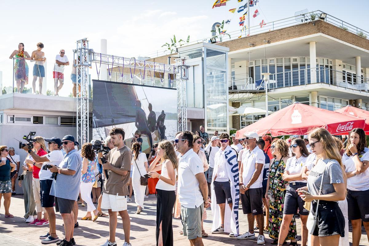
[{"label": "white polo shirt of the man in white cap", "polygon": [[[242,165],[244,170],[242,171],[242,181],[246,186],[251,180],[252,174],[255,172],[255,164],[260,163],[265,165],[265,156],[263,150],[256,146],[252,151],[245,150],[242,154]],[[258,179],[250,188],[261,188],[263,187],[263,172],[260,173]]]}]

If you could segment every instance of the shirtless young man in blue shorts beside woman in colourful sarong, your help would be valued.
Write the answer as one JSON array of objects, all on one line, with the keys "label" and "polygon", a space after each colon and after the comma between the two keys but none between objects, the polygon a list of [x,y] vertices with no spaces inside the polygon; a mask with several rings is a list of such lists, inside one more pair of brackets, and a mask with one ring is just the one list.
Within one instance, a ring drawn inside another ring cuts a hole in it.
[{"label": "shirtless young man in blue shorts beside woman in colourful sarong", "polygon": [[45,77],[44,62],[46,62],[45,53],[41,51],[43,48],[44,44],[39,42],[37,44],[37,50],[33,51],[31,55],[31,60],[35,61],[35,65],[33,66],[33,81],[32,81],[33,94],[36,94],[37,77],[38,77],[39,94],[41,94],[42,92],[42,80]]}]

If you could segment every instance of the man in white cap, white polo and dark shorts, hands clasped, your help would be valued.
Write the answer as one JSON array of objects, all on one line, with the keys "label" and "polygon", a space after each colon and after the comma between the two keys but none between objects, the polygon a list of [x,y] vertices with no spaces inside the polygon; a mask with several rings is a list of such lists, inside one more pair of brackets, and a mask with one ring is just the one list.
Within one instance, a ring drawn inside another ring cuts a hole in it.
[{"label": "man in white cap, white polo and dark shorts, hands clasped", "polygon": [[247,132],[245,145],[249,150],[245,150],[242,155],[241,170],[239,171],[239,192],[241,193],[242,211],[247,214],[249,231],[237,237],[237,239],[254,239],[254,216],[261,229],[259,229],[258,244],[265,243],[265,236],[262,225],[264,225],[263,215],[263,168],[265,156],[263,150],[259,149],[257,141],[258,134]]}]

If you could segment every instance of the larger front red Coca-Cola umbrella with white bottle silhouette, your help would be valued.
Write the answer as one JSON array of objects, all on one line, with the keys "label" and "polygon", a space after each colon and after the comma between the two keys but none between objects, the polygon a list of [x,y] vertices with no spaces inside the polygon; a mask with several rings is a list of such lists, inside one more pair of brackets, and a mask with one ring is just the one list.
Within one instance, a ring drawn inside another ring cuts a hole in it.
[{"label": "larger front red Coca-Cola umbrella with white bottle silhouette", "polygon": [[317,127],[337,135],[348,133],[356,127],[363,128],[364,125],[363,118],[296,102],[238,130],[236,138],[244,138],[245,132],[256,132],[259,136],[306,135]]}]

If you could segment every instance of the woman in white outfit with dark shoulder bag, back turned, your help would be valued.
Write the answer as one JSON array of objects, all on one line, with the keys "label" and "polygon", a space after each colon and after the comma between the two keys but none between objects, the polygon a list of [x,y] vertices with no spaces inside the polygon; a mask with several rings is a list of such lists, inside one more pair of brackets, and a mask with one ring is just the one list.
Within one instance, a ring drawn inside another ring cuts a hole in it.
[{"label": "woman in white outfit with dark shoulder bag, back turned", "polygon": [[132,145],[132,187],[135,196],[135,202],[137,204],[137,212],[139,214],[144,209],[144,196],[146,186],[142,186],[140,179],[141,176],[144,176],[148,170],[148,163],[146,159],[145,153],[139,152],[140,145],[139,143],[134,143]]}]

